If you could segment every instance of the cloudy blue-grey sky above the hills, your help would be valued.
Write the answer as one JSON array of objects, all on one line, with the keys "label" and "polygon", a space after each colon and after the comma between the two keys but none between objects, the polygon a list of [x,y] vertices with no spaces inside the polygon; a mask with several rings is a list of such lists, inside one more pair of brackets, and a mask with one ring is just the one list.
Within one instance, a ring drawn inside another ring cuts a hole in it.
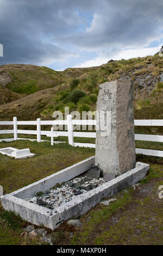
[{"label": "cloudy blue-grey sky above the hills", "polygon": [[55,70],[154,54],[162,0],[0,0],[0,65]]}]

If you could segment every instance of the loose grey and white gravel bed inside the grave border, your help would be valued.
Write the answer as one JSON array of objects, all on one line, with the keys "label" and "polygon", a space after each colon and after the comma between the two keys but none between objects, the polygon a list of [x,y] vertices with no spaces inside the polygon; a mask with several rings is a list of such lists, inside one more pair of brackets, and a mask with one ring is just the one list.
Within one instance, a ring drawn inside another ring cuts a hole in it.
[{"label": "loose grey and white gravel bed inside the grave border", "polygon": [[37,192],[26,200],[30,203],[54,210],[61,204],[65,204],[80,194],[87,193],[106,182],[108,181],[103,180],[103,178],[90,179],[86,176],[80,176],[64,184],[57,184],[46,192]]}]

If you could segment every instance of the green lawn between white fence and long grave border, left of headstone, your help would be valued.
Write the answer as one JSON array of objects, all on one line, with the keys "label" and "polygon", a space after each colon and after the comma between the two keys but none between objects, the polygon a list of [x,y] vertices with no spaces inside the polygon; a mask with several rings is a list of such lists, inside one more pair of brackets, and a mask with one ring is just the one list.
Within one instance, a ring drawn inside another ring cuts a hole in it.
[{"label": "green lawn between white fence and long grave border, left of headstone", "polygon": [[[1,148],[30,148],[35,156],[29,159],[16,160],[0,154],[0,180],[4,193],[10,193],[32,182],[45,178],[61,169],[95,155],[95,149],[74,148],[67,143],[15,141],[0,143]],[[72,157],[71,157],[72,156]]]}]

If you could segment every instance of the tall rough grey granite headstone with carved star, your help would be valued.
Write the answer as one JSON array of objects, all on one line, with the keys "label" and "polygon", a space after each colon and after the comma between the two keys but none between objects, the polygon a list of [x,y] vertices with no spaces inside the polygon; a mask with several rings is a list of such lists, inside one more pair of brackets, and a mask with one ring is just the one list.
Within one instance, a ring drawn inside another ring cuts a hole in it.
[{"label": "tall rough grey granite headstone with carved star", "polygon": [[133,98],[131,80],[99,85],[95,164],[103,175],[121,175],[135,168]]}]

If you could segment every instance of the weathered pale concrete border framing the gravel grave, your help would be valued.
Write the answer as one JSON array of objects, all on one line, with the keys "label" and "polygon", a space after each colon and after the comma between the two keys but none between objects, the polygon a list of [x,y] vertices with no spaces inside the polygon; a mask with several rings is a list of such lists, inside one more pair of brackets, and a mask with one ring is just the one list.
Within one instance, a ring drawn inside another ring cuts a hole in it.
[{"label": "weathered pale concrete border framing the gravel grave", "polygon": [[92,164],[95,164],[94,156],[73,164],[73,166],[60,170],[60,172],[47,176],[46,178],[23,187],[20,190],[5,194],[1,197],[3,208],[7,211],[15,212],[15,214],[20,215],[24,220],[30,223],[44,225],[45,227],[54,230],[59,227],[60,223],[68,220],[68,218],[79,216],[89,211],[93,206],[101,202],[102,198],[108,196],[111,197],[124,188],[145,178],[149,169],[149,164],[137,162],[134,169],[117,176],[117,178],[108,181],[87,193],[80,194],[76,199],[72,199],[57,207],[56,211],[49,210],[43,206],[29,203],[24,200],[25,198],[32,196],[34,192],[45,192],[57,183],[73,179],[90,169]]}]

